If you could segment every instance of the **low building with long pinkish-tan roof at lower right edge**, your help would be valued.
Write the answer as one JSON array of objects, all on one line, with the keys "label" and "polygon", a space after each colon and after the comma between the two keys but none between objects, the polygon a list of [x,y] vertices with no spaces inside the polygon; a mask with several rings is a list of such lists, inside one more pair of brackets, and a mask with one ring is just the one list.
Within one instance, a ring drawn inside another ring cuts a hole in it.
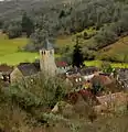
[{"label": "low building with long pinkish-tan roof at lower right edge", "polygon": [[118,111],[119,107],[127,109],[128,95],[125,92],[109,94],[100,97],[96,97],[99,105],[94,106],[97,113]]}]

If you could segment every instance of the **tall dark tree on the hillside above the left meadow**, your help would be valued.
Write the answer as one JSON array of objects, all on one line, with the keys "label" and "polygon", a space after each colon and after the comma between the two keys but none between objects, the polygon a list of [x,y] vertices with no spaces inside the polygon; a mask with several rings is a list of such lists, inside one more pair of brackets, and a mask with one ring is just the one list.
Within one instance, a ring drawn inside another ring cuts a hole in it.
[{"label": "tall dark tree on the hillside above the left meadow", "polygon": [[22,15],[22,32],[25,32],[26,36],[30,37],[33,31],[34,31],[33,21],[24,12]]}]

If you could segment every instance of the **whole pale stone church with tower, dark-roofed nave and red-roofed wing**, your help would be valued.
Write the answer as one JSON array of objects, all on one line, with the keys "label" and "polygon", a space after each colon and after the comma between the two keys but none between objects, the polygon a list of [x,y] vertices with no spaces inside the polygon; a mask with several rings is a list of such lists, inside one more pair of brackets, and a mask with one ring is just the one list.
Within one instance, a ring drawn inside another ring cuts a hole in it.
[{"label": "whole pale stone church with tower, dark-roofed nave and red-roofed wing", "polygon": [[39,53],[40,58],[34,63],[21,63],[14,67],[10,74],[11,82],[18,81],[23,77],[36,76],[39,73],[43,73],[45,76],[55,76],[70,69],[66,62],[55,62],[54,47],[49,40],[45,41]]}]

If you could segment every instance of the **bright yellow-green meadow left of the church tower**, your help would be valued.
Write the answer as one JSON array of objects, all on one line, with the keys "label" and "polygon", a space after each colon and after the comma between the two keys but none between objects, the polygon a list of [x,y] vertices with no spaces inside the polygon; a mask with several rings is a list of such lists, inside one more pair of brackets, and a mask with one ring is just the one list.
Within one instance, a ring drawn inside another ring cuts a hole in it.
[{"label": "bright yellow-green meadow left of the church tower", "polygon": [[32,62],[38,54],[19,52],[19,47],[22,47],[28,43],[28,40],[14,38],[8,40],[4,35],[0,34],[0,64],[17,65],[21,62]]}]

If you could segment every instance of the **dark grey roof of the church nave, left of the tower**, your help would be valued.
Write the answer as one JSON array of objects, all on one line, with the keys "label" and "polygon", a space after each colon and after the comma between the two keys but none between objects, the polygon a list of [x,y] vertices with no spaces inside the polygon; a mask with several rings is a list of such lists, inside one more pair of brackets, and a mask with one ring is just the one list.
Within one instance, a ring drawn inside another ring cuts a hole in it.
[{"label": "dark grey roof of the church nave, left of the tower", "polygon": [[34,63],[22,63],[18,65],[18,68],[23,74],[23,76],[32,76],[40,72],[39,64]]}]

